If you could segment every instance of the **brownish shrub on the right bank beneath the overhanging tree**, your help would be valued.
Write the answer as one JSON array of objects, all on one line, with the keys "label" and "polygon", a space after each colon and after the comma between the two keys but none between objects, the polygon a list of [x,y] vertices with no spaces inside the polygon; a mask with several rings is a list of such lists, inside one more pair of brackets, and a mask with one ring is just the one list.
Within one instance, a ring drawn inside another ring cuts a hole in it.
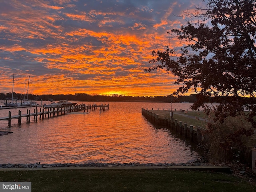
[{"label": "brownish shrub on the right bank beneath the overhanging tree", "polygon": [[[218,113],[218,114],[217,114]],[[215,108],[208,111],[207,130],[204,131],[206,156],[210,162],[241,162],[252,165],[251,149],[256,135],[244,112],[229,116]]]}]

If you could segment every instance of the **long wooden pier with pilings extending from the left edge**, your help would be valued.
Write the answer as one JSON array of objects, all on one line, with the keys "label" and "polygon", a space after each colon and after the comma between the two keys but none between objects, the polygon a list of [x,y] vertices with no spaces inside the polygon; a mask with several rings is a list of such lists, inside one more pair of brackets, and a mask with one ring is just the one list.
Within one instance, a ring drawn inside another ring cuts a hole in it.
[{"label": "long wooden pier with pilings extending from the left edge", "polygon": [[0,117],[0,121],[8,121],[8,126],[11,126],[11,120],[12,119],[18,119],[18,124],[21,124],[21,119],[26,118],[28,122],[30,122],[30,118],[34,117],[34,120],[37,121],[38,116],[39,118],[50,118],[50,117],[56,117],[60,115],[64,115],[67,113],[71,112],[78,112],[81,110],[84,110],[84,112],[88,112],[89,110],[96,110],[97,108],[100,108],[100,113],[109,109],[109,104],[108,105],[76,105],[76,106],[57,106],[57,107],[50,107],[50,108],[45,108],[44,106],[40,108],[40,111],[38,112],[38,109],[34,109],[34,113],[31,113],[30,110],[27,110],[26,114],[22,114],[21,110],[19,110],[18,115],[12,115],[12,112],[9,111],[8,116],[6,117]]}]

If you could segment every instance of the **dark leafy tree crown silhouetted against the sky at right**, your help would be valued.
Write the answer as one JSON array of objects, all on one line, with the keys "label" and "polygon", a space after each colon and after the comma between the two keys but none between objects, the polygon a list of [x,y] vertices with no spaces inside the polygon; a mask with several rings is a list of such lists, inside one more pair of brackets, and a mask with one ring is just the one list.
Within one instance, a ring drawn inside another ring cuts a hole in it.
[{"label": "dark leafy tree crown silhouetted against the sky at right", "polygon": [[[176,95],[193,90],[204,96],[234,96],[238,100],[249,96],[254,100],[255,0],[208,0],[206,9],[197,7],[196,11],[198,14],[188,16],[200,22],[187,22],[180,29],[171,30],[186,46],[179,52],[169,47],[164,52],[153,51],[154,59],[150,62],[158,65],[145,70],[166,68],[174,74],[174,84],[181,84]],[[179,57],[173,57],[174,54]],[[252,109],[252,105],[245,105]]]}]

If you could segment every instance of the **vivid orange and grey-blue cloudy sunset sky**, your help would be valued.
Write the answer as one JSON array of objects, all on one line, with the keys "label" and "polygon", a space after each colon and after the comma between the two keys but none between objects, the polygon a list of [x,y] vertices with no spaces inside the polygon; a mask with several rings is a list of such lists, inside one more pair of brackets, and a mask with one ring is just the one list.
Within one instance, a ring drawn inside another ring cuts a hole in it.
[{"label": "vivid orange and grey-blue cloudy sunset sky", "polygon": [[[0,0],[0,92],[165,96],[177,86],[152,50],[202,0]],[[180,17],[178,17],[180,16]]]}]

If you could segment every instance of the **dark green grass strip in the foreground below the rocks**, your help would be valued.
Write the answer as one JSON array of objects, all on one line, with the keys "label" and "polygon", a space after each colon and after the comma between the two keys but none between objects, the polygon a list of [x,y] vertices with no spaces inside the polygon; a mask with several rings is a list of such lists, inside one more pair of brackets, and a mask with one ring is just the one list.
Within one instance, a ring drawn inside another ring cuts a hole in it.
[{"label": "dark green grass strip in the foreground below the rocks", "polygon": [[0,181],[31,181],[32,192],[251,192],[256,185],[232,174],[196,170],[0,171]]}]

